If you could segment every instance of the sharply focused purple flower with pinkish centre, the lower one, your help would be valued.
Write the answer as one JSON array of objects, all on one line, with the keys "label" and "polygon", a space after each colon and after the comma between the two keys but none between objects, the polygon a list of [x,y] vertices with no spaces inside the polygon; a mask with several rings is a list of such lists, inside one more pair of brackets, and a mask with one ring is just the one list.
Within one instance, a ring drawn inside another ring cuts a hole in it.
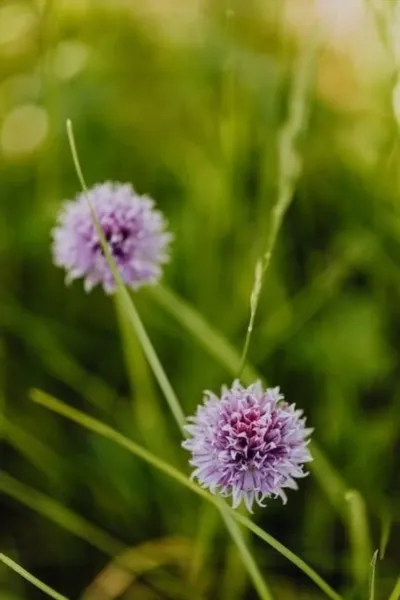
[{"label": "sharply focused purple flower with pinkish centre, the lower one", "polygon": [[243,500],[252,512],[254,501],[264,506],[269,496],[286,503],[283,488],[297,489],[295,479],[307,475],[303,463],[312,460],[307,437],[313,430],[301,410],[282,400],[279,388],[235,381],[222,388],[221,398],[205,392],[204,404],[188,419],[192,437],[182,445],[192,453],[192,477],[213,494],[232,496],[233,508]]}]

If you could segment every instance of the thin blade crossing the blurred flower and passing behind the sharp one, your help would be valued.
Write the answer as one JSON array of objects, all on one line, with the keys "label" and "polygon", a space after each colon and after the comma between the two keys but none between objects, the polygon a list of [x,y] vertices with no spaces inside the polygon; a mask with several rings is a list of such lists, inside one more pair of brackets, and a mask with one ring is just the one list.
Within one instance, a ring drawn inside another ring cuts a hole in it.
[{"label": "thin blade crossing the blurred flower and passing behind the sharp one", "polygon": [[[72,158],[74,161],[76,172],[77,172],[78,178],[81,182],[82,189],[83,189],[84,193],[87,194],[88,189],[87,189],[85,179],[83,177],[82,169],[80,166],[78,152],[77,152],[76,144],[75,144],[74,133],[73,133],[73,129],[72,129],[72,122],[70,120],[67,121],[67,134],[68,134],[68,140],[70,143]],[[110,252],[108,243],[104,237],[104,233],[101,228],[101,225],[97,220],[93,206],[91,205],[89,198],[87,198],[87,200],[88,200],[88,205],[89,205],[90,212],[92,215],[92,219],[93,219],[97,234],[98,234],[100,242],[101,242],[104,256],[107,259],[108,266],[111,270],[111,273],[114,277],[114,281],[116,283],[116,287],[117,287],[116,298],[117,298],[117,301],[120,302],[121,311],[123,311],[125,313],[126,318],[128,319],[128,321],[131,322],[133,329],[134,329],[137,337],[140,340],[140,343],[141,343],[143,351],[147,357],[147,360],[149,361],[149,364],[153,370],[154,376],[157,379],[159,386],[164,393],[164,396],[169,405],[169,408],[170,408],[182,434],[184,434],[185,415],[183,413],[183,410],[181,408],[179,400],[169,382],[169,379],[161,365],[161,362],[158,359],[157,353],[155,352],[153,345],[150,341],[150,338],[148,337],[147,332],[142,324],[139,314],[136,311],[134,303],[124,285],[122,277],[118,271],[118,268],[115,264],[112,254]],[[221,510],[225,510],[225,509],[223,508]],[[230,517],[227,516],[226,518],[229,519]],[[234,524],[232,524],[232,527],[233,527],[233,525]],[[235,541],[239,538],[240,535],[241,534],[238,531],[237,534],[235,535]],[[244,544],[244,542],[243,542],[243,544]],[[243,544],[242,544],[242,547],[243,547]],[[240,548],[239,548],[239,551],[240,551]],[[249,556],[251,557],[251,555],[243,556],[243,562],[246,566],[249,566]],[[253,557],[251,557],[251,562],[253,564],[252,564],[252,570],[249,574],[251,577],[253,577],[255,572],[258,570],[258,567],[257,567]],[[260,597],[263,600],[271,600],[271,595],[267,588],[266,583],[263,584],[263,589],[260,588],[260,580],[262,580],[261,575],[259,577],[257,577],[257,580],[254,581],[254,584],[255,584],[258,592],[259,593],[262,592],[260,594]]]}]

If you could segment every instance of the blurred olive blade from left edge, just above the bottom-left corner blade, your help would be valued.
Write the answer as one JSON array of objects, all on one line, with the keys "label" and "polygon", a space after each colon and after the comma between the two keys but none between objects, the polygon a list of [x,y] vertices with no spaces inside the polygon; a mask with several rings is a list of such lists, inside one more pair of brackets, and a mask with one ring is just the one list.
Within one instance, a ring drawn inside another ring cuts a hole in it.
[{"label": "blurred olive blade from left edge, just above the bottom-left corner blade", "polygon": [[81,538],[91,546],[98,548],[104,554],[114,556],[121,552],[125,545],[105,533],[86,519],[74,513],[56,500],[42,492],[17,481],[5,471],[1,471],[0,490],[21,504],[39,513],[66,531]]}]

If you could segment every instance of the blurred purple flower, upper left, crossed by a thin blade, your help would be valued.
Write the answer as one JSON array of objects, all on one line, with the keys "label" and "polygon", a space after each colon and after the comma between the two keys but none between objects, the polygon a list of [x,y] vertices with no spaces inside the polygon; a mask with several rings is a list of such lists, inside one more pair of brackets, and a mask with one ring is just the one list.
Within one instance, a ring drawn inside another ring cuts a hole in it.
[{"label": "blurred purple flower, upper left, crossed by a thin blade", "polygon": [[115,282],[104,256],[88,199],[96,213],[124,282],[138,289],[155,283],[168,260],[172,235],[154,201],[139,196],[130,184],[102,183],[62,207],[52,232],[54,263],[67,272],[66,282],[83,278],[86,291]]}]

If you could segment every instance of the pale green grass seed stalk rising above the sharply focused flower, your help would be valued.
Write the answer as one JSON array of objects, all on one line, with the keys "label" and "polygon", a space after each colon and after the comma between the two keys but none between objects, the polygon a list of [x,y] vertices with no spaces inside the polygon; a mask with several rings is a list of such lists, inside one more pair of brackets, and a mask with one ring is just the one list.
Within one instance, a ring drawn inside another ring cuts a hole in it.
[{"label": "pale green grass seed stalk rising above the sharply focused flower", "polygon": [[292,201],[301,171],[301,156],[297,150],[297,144],[308,121],[310,87],[314,74],[317,49],[317,39],[314,37],[310,40],[310,43],[299,57],[299,62],[295,70],[293,90],[289,100],[288,120],[282,128],[278,140],[277,199],[272,209],[265,252],[261,259],[257,261],[255,268],[254,286],[250,295],[250,319],[238,376],[241,375],[244,365],[246,364],[251,334],[254,327],[258,304],[260,302],[265,275],[271,263],[276,240],[284,216]]}]

